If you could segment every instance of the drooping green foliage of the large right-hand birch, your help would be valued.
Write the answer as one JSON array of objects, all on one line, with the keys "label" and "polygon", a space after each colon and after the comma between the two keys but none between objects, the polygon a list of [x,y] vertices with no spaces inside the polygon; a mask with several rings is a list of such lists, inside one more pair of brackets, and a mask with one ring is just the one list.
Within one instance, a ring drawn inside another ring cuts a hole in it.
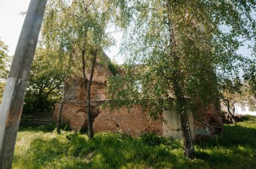
[{"label": "drooping green foliage of the large right-hand birch", "polygon": [[[222,91],[240,89],[247,58],[237,50],[255,38],[254,1],[124,1],[122,7],[131,20],[121,48],[127,66],[108,84],[110,106],[139,103],[159,113],[173,97],[174,107],[196,110],[216,104]],[[176,101],[177,87],[189,105]]]}]

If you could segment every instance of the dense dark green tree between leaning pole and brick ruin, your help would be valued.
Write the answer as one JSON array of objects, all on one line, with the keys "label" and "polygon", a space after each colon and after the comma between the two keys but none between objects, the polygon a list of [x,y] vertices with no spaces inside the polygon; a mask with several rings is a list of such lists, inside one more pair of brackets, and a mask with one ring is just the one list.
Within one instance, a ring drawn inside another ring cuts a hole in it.
[{"label": "dense dark green tree between leaning pole and brick ruin", "polygon": [[54,60],[56,55],[51,50],[37,50],[24,101],[24,113],[53,111],[55,103],[59,101],[64,74],[62,67]]}]

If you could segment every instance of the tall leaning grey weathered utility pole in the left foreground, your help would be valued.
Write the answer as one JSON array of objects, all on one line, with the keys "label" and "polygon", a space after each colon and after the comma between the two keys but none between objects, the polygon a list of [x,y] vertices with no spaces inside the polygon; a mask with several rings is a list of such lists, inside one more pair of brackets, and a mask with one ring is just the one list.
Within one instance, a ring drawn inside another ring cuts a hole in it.
[{"label": "tall leaning grey weathered utility pole in the left foreground", "polygon": [[30,68],[47,0],[31,0],[0,107],[0,169],[11,168]]}]

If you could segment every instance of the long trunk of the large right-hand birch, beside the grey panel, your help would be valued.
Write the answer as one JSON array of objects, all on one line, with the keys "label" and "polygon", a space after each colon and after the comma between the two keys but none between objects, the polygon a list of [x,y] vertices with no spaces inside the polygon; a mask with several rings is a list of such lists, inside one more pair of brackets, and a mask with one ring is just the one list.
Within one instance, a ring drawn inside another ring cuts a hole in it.
[{"label": "long trunk of the large right-hand birch, beside the grey panel", "polygon": [[181,75],[181,67],[179,66],[180,58],[176,54],[176,42],[174,37],[174,26],[171,20],[171,6],[170,1],[167,3],[168,7],[168,28],[169,28],[169,50],[170,58],[172,58],[172,87],[174,89],[174,97],[177,103],[177,113],[181,115],[181,129],[183,132],[183,144],[184,144],[184,155],[187,158],[193,159],[194,157],[194,146],[191,136],[191,129],[189,127],[189,117],[186,110],[186,101],[183,94],[183,77]]}]

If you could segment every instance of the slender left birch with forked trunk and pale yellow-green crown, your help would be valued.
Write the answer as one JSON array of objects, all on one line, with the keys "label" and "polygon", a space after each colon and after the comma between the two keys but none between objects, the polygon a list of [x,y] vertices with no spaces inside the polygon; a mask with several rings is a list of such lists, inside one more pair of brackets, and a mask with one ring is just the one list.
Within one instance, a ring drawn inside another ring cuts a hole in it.
[{"label": "slender left birch with forked trunk and pale yellow-green crown", "polygon": [[[113,44],[111,37],[106,34],[112,13],[111,3],[108,1],[74,0],[51,1],[51,4],[46,12],[48,17],[46,17],[45,36],[47,40],[55,37],[54,40],[57,44],[63,44],[61,45],[63,52],[72,50],[71,53],[80,58],[80,62],[75,66],[80,66],[79,72],[83,78],[84,91],[86,91],[84,95],[86,95],[87,109],[85,111],[88,118],[88,136],[92,138],[94,133],[92,131],[90,88],[97,56],[102,55],[102,50]],[[53,22],[55,20],[57,22]],[[49,42],[45,43],[49,44]]]}]

